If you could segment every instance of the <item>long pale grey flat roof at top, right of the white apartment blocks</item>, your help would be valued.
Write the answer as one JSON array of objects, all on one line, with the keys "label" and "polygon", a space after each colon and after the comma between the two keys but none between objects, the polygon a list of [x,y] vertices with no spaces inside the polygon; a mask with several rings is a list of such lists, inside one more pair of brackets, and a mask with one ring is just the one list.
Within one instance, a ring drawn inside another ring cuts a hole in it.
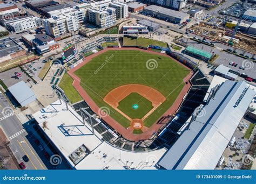
[{"label": "long pale grey flat roof at top, right of the white apartment blocks", "polygon": [[144,10],[150,10],[150,11],[161,13],[161,14],[164,14],[164,15],[167,15],[167,16],[180,18],[181,20],[190,16],[187,13],[183,13],[183,12],[180,12],[180,11],[175,11],[175,10],[163,8],[161,6],[156,6],[156,5],[147,6],[146,8],[144,8]]}]

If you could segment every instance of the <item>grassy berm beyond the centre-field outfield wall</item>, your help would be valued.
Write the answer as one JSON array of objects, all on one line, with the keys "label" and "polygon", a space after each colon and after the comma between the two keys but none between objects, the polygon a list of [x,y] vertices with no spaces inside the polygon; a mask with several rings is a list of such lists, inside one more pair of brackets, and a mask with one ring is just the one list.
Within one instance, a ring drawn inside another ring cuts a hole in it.
[{"label": "grassy berm beyond the centre-field outfield wall", "polygon": [[152,40],[148,38],[131,39],[131,38],[124,37],[123,44],[124,46],[140,46],[145,48],[149,45],[168,47],[167,43],[164,43],[163,41],[157,41],[157,40]]}]

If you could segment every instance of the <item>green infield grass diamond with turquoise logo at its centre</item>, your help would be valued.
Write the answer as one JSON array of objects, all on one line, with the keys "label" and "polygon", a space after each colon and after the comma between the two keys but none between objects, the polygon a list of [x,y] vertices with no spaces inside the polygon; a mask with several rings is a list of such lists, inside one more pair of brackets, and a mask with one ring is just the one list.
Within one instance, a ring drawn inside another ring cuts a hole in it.
[{"label": "green infield grass diamond with turquoise logo at its centre", "polygon": [[117,108],[132,119],[141,119],[147,114],[147,112],[153,109],[153,106],[149,100],[138,93],[131,93],[119,102],[119,106]]}]

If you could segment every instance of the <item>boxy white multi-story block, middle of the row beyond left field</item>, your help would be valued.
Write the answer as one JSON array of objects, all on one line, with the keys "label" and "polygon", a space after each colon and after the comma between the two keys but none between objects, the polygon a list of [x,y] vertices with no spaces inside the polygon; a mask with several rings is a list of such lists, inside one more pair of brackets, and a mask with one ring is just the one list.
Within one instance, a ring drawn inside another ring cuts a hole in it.
[{"label": "boxy white multi-story block, middle of the row beyond left field", "polygon": [[89,22],[95,24],[99,27],[109,27],[116,24],[116,9],[106,8],[104,10],[90,8],[89,12]]}]

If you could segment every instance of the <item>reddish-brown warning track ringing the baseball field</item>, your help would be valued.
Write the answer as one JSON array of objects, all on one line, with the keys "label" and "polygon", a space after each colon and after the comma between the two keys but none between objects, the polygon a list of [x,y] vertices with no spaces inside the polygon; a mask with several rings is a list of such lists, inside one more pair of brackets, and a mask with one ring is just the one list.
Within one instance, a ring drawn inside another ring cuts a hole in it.
[{"label": "reddish-brown warning track ringing the baseball field", "polygon": [[[171,56],[166,55],[164,53],[159,53],[159,52],[154,52],[154,51],[148,51],[145,49],[140,49],[140,48],[105,48],[102,51],[99,51],[95,54],[92,54],[90,56],[87,56],[85,58],[85,60],[82,63],[79,63],[75,68],[72,68],[69,70],[68,74],[72,77],[73,81],[73,86],[76,88],[76,90],[78,91],[78,93],[84,98],[84,101],[90,106],[90,108],[92,109],[92,111],[94,111],[96,114],[99,114],[99,107],[98,105],[91,99],[91,97],[86,93],[86,91],[84,90],[84,88],[82,86],[80,86],[80,78],[77,77],[74,72],[76,70],[78,70],[79,68],[83,67],[86,63],[90,62],[92,58],[95,58],[96,56],[107,52],[107,51],[117,51],[117,50],[136,50],[136,51],[142,51],[142,52],[147,52],[147,53],[151,53],[151,54],[158,54],[158,55],[162,55],[162,56],[166,56],[169,57],[170,59],[176,61],[179,65],[184,66],[183,64],[181,64],[179,61],[173,59]],[[188,70],[191,70],[190,68],[184,66],[185,68],[187,68]],[[185,78],[184,78],[184,82],[188,82],[188,80],[190,80],[191,76],[193,75],[192,72],[190,72],[190,74],[188,74]],[[163,116],[167,116],[167,115],[173,115],[179,108],[181,102],[183,101],[183,97],[185,96],[185,94],[187,93],[187,91],[190,89],[191,84],[188,82],[188,84],[185,84],[185,86],[183,87],[183,89],[180,91],[180,94],[178,95],[178,97],[176,98],[176,101],[174,101],[174,103],[172,104],[172,106],[163,114]],[[109,124],[113,129],[115,129],[118,133],[120,133],[124,138],[129,139],[131,141],[138,141],[138,140],[144,140],[144,139],[148,139],[150,138],[155,132],[157,132],[161,126],[163,126],[163,124],[157,124],[154,123],[152,126],[150,126],[150,128],[146,128],[145,126],[143,127],[143,133],[141,134],[133,134],[133,128],[124,128],[124,126],[120,125],[116,120],[114,120],[112,117],[110,116],[106,116],[103,118],[105,122],[107,122],[107,124]],[[160,119],[160,118],[159,118]],[[158,119],[158,120],[159,120]]]}]

